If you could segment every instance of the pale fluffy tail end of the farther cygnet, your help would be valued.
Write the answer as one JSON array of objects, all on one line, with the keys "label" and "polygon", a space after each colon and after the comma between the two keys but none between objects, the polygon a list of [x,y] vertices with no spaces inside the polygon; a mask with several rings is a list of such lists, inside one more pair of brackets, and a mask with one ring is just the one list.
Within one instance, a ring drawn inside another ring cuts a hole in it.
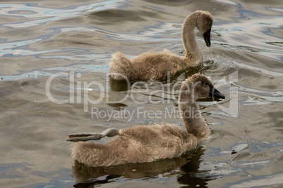
[{"label": "pale fluffy tail end of the farther cygnet", "polygon": [[133,69],[131,60],[122,53],[118,52],[112,56],[109,72],[113,79],[131,80],[134,75],[132,72]]}]

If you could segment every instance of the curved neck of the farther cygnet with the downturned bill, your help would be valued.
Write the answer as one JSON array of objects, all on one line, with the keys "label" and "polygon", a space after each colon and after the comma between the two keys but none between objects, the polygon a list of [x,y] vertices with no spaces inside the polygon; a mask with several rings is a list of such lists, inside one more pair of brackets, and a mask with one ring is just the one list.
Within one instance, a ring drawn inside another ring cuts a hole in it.
[{"label": "curved neck of the farther cygnet with the downturned bill", "polygon": [[186,50],[185,58],[190,66],[197,65],[203,60],[201,49],[199,48],[199,45],[196,42],[196,36],[194,35],[194,28],[196,27],[196,20],[198,16],[198,13],[189,15],[186,20],[184,20],[182,27],[182,39]]}]

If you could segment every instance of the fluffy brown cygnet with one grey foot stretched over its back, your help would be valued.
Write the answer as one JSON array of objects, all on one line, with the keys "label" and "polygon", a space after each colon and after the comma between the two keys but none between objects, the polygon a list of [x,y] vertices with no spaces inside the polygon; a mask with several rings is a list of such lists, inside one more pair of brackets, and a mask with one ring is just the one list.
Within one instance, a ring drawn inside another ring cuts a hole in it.
[{"label": "fluffy brown cygnet with one grey foot stretched over its back", "polygon": [[[179,107],[187,132],[181,126],[169,123],[153,126],[134,126],[117,130],[109,128],[102,133],[79,133],[69,135],[73,145],[73,159],[87,166],[115,166],[125,163],[146,163],[158,159],[170,159],[195,149],[206,140],[210,130],[199,110],[198,98],[225,98],[202,74],[195,74],[182,83]],[[115,137],[105,144],[78,142]]]}]

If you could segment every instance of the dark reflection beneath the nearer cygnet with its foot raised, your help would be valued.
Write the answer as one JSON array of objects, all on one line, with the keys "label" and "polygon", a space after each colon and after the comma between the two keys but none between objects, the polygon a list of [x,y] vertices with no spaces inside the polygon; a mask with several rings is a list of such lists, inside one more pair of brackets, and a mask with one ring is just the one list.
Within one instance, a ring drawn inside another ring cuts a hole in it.
[{"label": "dark reflection beneath the nearer cygnet with its foot raised", "polygon": [[[106,184],[119,180],[119,177],[150,180],[178,175],[177,182],[192,187],[205,187],[206,181],[213,179],[209,170],[199,170],[204,150],[199,147],[175,159],[165,159],[153,163],[130,163],[110,167],[89,167],[75,162],[73,176],[78,184],[74,187]],[[80,183],[82,182],[82,183]]]}]

